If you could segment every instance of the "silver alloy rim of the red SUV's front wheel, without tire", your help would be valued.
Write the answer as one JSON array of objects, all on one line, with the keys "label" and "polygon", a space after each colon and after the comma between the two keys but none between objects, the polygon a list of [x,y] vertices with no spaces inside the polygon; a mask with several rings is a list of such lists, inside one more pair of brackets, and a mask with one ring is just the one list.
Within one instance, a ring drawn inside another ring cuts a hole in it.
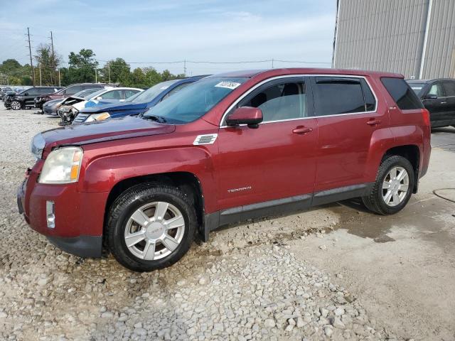
[{"label": "silver alloy rim of the red SUV's front wheel, without tire", "polygon": [[139,259],[153,261],[171,254],[183,239],[185,220],[168,202],[151,202],[129,217],[124,242]]}]

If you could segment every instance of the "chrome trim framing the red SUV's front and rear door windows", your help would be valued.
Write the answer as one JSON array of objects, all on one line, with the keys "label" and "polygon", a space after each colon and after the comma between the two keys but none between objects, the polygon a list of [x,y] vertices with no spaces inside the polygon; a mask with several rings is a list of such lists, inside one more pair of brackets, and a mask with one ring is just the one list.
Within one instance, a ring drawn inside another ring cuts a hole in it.
[{"label": "chrome trim framing the red SUV's front and rear door windows", "polygon": [[[303,74],[303,75],[284,75],[284,76],[275,76],[275,77],[267,78],[267,80],[262,80],[262,82],[257,83],[257,85],[255,85],[254,87],[251,87],[249,90],[247,90],[247,92],[245,92],[245,94],[242,94],[239,98],[237,98],[235,100],[235,102],[233,102],[228,107],[228,109],[225,111],[225,113],[223,114],[223,117],[221,117],[221,121],[219,123],[220,128],[228,128],[228,127],[232,128],[232,126],[223,126],[222,125],[223,121],[225,120],[225,117],[228,115],[228,112],[230,112],[232,110],[232,108],[235,107],[242,99],[247,97],[248,94],[250,94],[251,92],[256,90],[261,85],[266,84],[267,82],[271,82],[273,80],[279,80],[279,79],[282,79],[282,78],[291,78],[291,77],[363,78],[363,80],[365,80],[365,82],[367,83],[368,87],[370,88],[370,91],[373,94],[373,97],[375,97],[375,109],[374,110],[370,110],[369,112],[348,112],[346,114],[319,115],[319,116],[315,115],[315,116],[310,116],[310,117],[297,117],[295,119],[281,119],[281,120],[277,120],[277,121],[267,121],[267,122],[261,122],[259,124],[286,122],[286,121],[297,121],[299,119],[316,119],[318,117],[335,117],[335,116],[358,115],[358,114],[372,114],[372,113],[376,113],[378,111],[378,96],[376,96],[376,93],[374,92],[373,88],[371,87],[370,82],[368,82],[368,79],[365,76],[359,76],[359,75],[330,75],[330,74],[327,74],[327,75],[316,75],[316,74],[314,74],[314,75],[313,74],[310,74],[310,75],[308,75],[308,74]],[[245,125],[246,124],[240,124],[240,126],[245,126]]]}]

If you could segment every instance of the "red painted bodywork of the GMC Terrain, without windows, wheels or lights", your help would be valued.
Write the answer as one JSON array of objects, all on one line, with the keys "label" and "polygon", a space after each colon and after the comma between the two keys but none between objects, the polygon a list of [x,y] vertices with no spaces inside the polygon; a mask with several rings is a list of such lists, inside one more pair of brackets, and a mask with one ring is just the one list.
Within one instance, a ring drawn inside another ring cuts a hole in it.
[{"label": "red painted bodywork of the GMC Terrain, without windows, wheels or lights", "polygon": [[[286,75],[360,75],[378,97],[375,112],[307,117],[247,126],[220,127],[226,110],[259,82]],[[400,112],[380,72],[332,69],[276,69],[225,74],[250,77],[190,124],[173,126],[127,117],[71,126],[43,134],[43,158],[57,146],[84,150],[80,178],[68,185],[37,182],[40,160],[21,198],[31,227],[60,237],[100,236],[109,192],[119,181],[141,175],[188,172],[198,178],[205,213],[375,180],[385,151],[415,145],[420,176],[429,162],[429,127],[420,110]],[[380,124],[370,125],[371,119]],[[194,145],[196,136],[218,134],[214,144]],[[45,222],[45,201],[55,201],[55,229]]]}]

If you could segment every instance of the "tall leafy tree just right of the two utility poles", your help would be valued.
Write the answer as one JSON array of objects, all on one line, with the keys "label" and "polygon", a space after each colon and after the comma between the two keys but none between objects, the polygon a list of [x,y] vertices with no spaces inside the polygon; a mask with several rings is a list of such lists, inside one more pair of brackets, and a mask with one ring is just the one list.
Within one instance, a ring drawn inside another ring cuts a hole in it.
[{"label": "tall leafy tree just right of the two utility poles", "polygon": [[82,82],[95,82],[95,70],[98,62],[95,53],[90,49],[82,48],[79,53],[68,55],[68,75],[65,78],[69,84]]}]

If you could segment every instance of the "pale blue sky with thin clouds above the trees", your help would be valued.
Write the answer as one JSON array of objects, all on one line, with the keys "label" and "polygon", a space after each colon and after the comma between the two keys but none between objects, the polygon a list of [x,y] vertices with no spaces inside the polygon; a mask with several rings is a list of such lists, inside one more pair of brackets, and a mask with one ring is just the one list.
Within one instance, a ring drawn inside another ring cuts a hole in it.
[{"label": "pale blue sky with thin clouds above the trees", "polygon": [[[7,5],[4,4],[7,1]],[[336,0],[0,0],[0,61],[27,62],[26,28],[33,43],[54,44],[64,61],[71,51],[91,48],[102,60],[124,58],[132,67],[183,72],[183,64],[151,62],[301,60],[274,67],[329,67]],[[271,67],[187,63],[187,74]]]}]

